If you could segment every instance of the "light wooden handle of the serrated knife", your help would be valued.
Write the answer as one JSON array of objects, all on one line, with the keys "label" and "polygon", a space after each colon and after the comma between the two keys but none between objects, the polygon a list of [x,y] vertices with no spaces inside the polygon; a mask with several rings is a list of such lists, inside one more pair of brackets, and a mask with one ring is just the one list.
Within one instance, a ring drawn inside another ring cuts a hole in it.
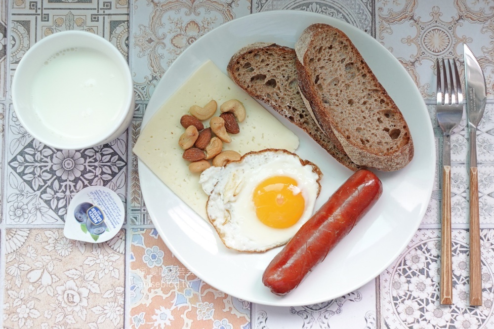
[{"label": "light wooden handle of the serrated knife", "polygon": [[470,167],[470,306],[482,306],[479,179],[477,167]]}]

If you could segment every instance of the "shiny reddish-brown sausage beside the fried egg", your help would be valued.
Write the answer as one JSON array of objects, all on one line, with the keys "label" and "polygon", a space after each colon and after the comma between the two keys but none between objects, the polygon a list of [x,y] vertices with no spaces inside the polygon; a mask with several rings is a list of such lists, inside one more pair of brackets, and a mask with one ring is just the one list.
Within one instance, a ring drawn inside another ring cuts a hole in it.
[{"label": "shiny reddish-brown sausage beside the fried egg", "polygon": [[381,194],[382,184],[375,174],[367,169],[355,172],[269,263],[262,276],[264,286],[277,295],[296,288]]}]

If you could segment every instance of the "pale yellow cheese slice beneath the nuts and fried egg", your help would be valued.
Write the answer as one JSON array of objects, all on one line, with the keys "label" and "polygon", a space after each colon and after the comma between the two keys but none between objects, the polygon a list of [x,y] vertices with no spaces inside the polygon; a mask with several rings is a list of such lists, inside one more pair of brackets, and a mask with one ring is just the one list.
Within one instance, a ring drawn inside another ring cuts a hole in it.
[{"label": "pale yellow cheese slice beneath the nuts and fried egg", "polygon": [[[298,137],[237,86],[211,61],[203,64],[158,110],[142,129],[133,152],[180,199],[207,220],[207,195],[199,184],[199,174],[189,171],[189,163],[182,159],[183,150],[178,139],[185,129],[180,118],[189,108],[204,106],[211,99],[219,105],[229,99],[240,100],[247,118],[239,123],[240,133],[231,135],[232,142],[223,143],[223,150],[234,150],[244,155],[267,148],[298,147]],[[209,121],[203,122],[205,127]]]}]

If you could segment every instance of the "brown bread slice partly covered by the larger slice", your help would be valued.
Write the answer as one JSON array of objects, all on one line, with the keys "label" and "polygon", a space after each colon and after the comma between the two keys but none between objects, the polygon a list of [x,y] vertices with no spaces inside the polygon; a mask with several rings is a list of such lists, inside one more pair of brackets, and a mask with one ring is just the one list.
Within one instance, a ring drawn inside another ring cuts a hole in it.
[{"label": "brown bread slice partly covered by the larger slice", "polygon": [[270,105],[302,128],[339,163],[353,171],[363,167],[338,150],[305,107],[298,90],[294,49],[275,43],[256,42],[233,55],[227,71],[230,78],[250,96]]}]

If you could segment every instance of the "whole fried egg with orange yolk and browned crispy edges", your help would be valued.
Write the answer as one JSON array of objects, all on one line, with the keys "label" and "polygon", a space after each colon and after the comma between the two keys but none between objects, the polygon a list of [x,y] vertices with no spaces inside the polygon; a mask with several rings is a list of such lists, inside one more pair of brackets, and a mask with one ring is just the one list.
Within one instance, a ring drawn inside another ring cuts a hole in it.
[{"label": "whole fried egg with orange yolk and browned crispy edges", "polygon": [[262,252],[286,244],[312,216],[321,191],[319,167],[286,150],[250,152],[210,167],[199,183],[206,213],[226,247]]}]

